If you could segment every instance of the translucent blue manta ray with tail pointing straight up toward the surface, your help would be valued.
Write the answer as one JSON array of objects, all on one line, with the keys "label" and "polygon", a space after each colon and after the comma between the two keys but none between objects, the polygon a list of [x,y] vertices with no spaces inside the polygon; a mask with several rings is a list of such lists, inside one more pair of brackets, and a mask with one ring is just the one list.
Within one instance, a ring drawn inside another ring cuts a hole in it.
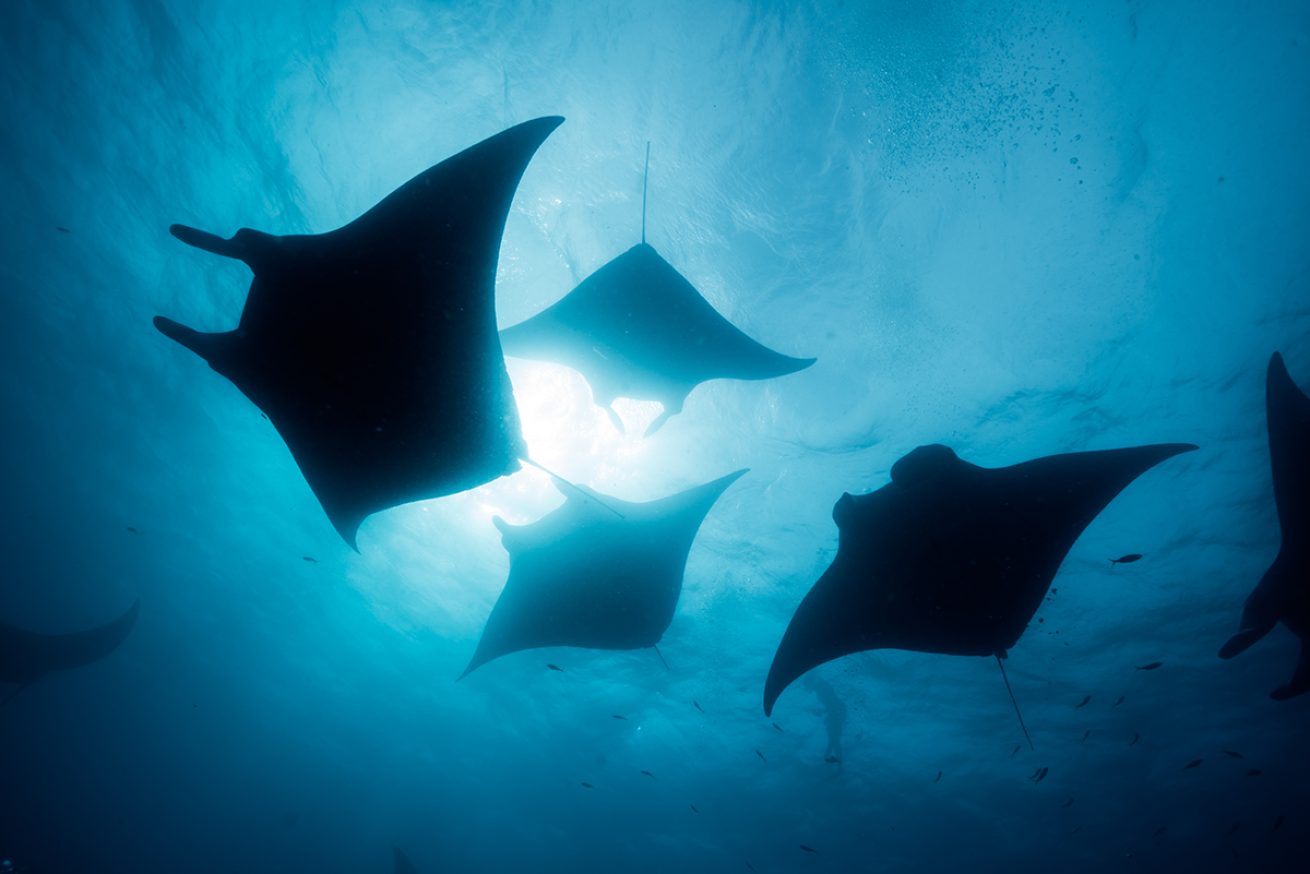
[{"label": "translucent blue manta ray with tail pointing straight up toward the surface", "polygon": [[620,431],[614,398],[659,401],[650,436],[711,379],[764,380],[804,370],[720,316],[683,274],[641,242],[554,305],[500,332],[506,355],[571,367]]}]

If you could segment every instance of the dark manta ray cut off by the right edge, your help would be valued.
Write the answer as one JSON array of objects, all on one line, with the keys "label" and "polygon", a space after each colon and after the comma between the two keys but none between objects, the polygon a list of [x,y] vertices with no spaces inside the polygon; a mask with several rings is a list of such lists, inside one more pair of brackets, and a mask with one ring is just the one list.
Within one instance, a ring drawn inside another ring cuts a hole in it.
[{"label": "dark manta ray cut off by the right edge", "polygon": [[1282,545],[1242,609],[1242,630],[1224,649],[1230,659],[1264,637],[1279,620],[1301,638],[1301,658],[1292,681],[1269,697],[1275,701],[1310,692],[1310,398],[1297,388],[1277,352],[1264,381],[1269,423],[1269,468],[1279,507]]}]

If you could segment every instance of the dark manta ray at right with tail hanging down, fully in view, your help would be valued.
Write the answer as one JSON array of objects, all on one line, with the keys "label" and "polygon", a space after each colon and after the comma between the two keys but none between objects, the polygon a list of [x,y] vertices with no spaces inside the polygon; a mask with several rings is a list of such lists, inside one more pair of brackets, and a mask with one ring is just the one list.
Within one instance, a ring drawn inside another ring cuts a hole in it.
[{"label": "dark manta ray at right with tail hanging down, fully in view", "polygon": [[1083,528],[1138,476],[1195,449],[1166,443],[980,468],[921,446],[872,494],[833,507],[837,557],[796,608],[764,713],[806,671],[875,649],[1006,656]]}]

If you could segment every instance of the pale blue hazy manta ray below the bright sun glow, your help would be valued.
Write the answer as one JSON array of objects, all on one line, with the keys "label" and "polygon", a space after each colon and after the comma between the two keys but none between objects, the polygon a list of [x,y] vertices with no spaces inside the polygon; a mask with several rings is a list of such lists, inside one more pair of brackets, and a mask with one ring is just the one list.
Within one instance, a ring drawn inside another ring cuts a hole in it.
[{"label": "pale blue hazy manta ray below the bright sun glow", "polygon": [[600,504],[595,491],[574,486],[586,497],[569,494],[531,525],[496,516],[510,579],[460,679],[491,659],[538,646],[637,650],[659,643],[673,621],[696,532],[743,473],[647,503],[607,497]]}]

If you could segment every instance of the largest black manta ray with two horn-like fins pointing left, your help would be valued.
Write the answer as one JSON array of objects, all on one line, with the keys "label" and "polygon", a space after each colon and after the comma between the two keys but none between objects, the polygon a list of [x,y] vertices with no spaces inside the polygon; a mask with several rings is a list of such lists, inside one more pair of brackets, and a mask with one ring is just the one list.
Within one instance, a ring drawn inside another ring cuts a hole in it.
[{"label": "largest black manta ray with two horn-like fins pointing left", "polygon": [[351,546],[369,514],[527,457],[495,325],[510,202],[562,118],[502,131],[320,235],[173,236],[254,273],[236,330],[155,326],[263,410]]}]

